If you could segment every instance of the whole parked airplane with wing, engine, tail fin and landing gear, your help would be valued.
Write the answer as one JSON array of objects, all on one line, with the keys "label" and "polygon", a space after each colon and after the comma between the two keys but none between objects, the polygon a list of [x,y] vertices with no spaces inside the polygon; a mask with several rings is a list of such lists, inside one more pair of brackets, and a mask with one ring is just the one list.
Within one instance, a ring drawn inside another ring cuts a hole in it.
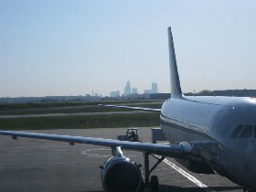
[{"label": "whole parked airplane with wing, engine, tail fin and landing gear", "polygon": [[[112,157],[101,166],[105,191],[158,191],[158,178],[152,170],[165,157],[174,157],[195,173],[218,173],[244,188],[256,191],[256,100],[247,97],[184,96],[176,65],[171,27],[167,28],[171,98],[161,109],[104,105],[160,113],[160,126],[169,144],[128,142],[71,135],[0,131],[17,137],[46,139],[69,144],[96,144],[112,148]],[[123,155],[123,150],[144,153],[141,165]],[[158,159],[150,169],[149,155]]]}]

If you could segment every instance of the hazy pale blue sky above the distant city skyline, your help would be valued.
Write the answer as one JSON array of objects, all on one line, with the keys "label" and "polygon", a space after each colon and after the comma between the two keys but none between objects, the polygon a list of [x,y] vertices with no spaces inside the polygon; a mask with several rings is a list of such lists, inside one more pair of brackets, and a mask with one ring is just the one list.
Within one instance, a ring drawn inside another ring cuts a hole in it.
[{"label": "hazy pale blue sky above the distant city skyline", "polygon": [[0,0],[0,97],[256,89],[256,1]]}]

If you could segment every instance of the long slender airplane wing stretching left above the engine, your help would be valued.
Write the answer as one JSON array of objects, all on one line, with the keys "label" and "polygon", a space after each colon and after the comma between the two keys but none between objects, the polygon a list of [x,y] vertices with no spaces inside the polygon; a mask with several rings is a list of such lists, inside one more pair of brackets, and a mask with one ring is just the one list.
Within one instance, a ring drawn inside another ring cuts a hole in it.
[{"label": "long slender airplane wing stretching left above the engine", "polygon": [[47,133],[28,133],[28,132],[14,132],[2,131],[0,134],[12,136],[13,139],[17,137],[28,137],[44,140],[52,140],[59,142],[68,142],[69,144],[96,144],[109,147],[120,146],[123,149],[130,149],[133,151],[148,152],[155,155],[164,155],[176,158],[184,158],[184,147],[178,144],[151,144],[142,142],[127,142],[113,139],[83,137],[83,136],[70,136],[61,134],[47,134]]}]

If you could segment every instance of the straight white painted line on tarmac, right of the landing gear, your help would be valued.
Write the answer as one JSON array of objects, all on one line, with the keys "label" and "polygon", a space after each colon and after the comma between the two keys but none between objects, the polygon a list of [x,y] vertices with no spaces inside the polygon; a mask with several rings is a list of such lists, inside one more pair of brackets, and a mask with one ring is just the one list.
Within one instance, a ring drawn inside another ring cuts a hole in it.
[{"label": "straight white painted line on tarmac, right of the landing gear", "polygon": [[212,190],[211,188],[208,188],[207,185],[203,184],[201,181],[199,181],[195,176],[191,176],[190,174],[188,174],[186,171],[184,171],[182,168],[178,167],[177,165],[175,165],[174,163],[170,162],[169,160],[167,160],[166,158],[164,159],[164,162],[166,165],[171,166],[172,168],[174,168],[178,173],[180,173],[182,176],[187,177],[188,180],[192,181],[194,184],[196,184],[198,187],[203,188],[205,191],[208,192],[214,192],[214,190]]}]

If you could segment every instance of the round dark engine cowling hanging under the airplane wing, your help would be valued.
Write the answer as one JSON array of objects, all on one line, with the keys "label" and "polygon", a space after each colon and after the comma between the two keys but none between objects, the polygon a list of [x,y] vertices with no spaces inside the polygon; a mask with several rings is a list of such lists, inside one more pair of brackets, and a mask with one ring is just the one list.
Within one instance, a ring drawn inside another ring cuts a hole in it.
[{"label": "round dark engine cowling hanging under the airplane wing", "polygon": [[144,184],[138,165],[124,156],[113,156],[103,165],[101,182],[108,192],[141,191]]}]

